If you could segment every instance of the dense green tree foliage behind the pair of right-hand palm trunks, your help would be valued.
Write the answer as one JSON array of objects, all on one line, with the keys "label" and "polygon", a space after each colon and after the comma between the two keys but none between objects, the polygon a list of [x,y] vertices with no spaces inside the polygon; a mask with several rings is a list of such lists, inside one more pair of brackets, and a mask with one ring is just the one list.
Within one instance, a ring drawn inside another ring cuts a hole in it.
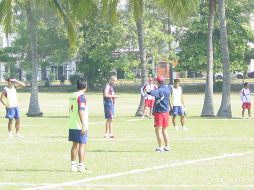
[{"label": "dense green tree foliage behind the pair of right-hand palm trunks", "polygon": [[[226,16],[228,26],[228,43],[232,71],[245,71],[246,62],[245,54],[248,52],[247,42],[251,39],[243,25],[249,22],[250,10],[248,6],[253,6],[253,2],[237,3],[236,0],[227,1]],[[201,4],[199,15],[193,19],[191,26],[180,40],[180,64],[177,70],[204,71],[207,62],[207,25],[208,25],[208,8],[207,5]],[[243,14],[245,13],[245,14]],[[253,39],[252,39],[253,41]],[[222,70],[220,36],[218,17],[215,18],[214,25],[214,70]]]}]

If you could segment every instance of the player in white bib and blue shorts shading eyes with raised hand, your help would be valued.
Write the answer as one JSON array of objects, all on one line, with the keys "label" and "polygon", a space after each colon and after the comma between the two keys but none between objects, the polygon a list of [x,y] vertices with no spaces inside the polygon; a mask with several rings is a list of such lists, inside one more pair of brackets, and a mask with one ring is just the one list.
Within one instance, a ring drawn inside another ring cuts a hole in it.
[{"label": "player in white bib and blue shorts shading eyes with raised hand", "polygon": [[6,81],[8,83],[8,86],[4,87],[0,100],[6,108],[6,118],[9,119],[8,122],[9,138],[13,137],[12,134],[13,119],[15,119],[16,137],[22,137],[21,134],[19,133],[20,113],[18,107],[16,88],[25,87],[26,85],[23,82],[18,81],[16,79],[8,78]]}]

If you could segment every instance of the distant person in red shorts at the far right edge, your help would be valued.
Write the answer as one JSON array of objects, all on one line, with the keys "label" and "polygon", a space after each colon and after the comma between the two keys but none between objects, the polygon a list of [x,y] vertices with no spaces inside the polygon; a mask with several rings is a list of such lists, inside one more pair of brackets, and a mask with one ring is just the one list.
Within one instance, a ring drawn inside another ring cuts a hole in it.
[{"label": "distant person in red shorts at the far right edge", "polygon": [[251,93],[249,89],[249,83],[243,84],[243,89],[240,92],[240,99],[242,101],[242,118],[244,118],[245,110],[248,110],[249,118],[251,118]]}]

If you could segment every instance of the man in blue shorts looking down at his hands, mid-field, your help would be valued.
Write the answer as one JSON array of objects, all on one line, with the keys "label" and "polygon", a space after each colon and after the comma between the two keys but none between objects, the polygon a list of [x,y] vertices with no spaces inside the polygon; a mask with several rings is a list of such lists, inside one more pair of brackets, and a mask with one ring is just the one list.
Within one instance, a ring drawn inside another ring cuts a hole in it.
[{"label": "man in blue shorts looking down at his hands, mid-field", "polygon": [[104,138],[115,138],[112,131],[112,120],[115,112],[115,98],[117,98],[114,92],[114,85],[116,82],[117,77],[113,75],[104,88],[103,104],[106,119]]}]

